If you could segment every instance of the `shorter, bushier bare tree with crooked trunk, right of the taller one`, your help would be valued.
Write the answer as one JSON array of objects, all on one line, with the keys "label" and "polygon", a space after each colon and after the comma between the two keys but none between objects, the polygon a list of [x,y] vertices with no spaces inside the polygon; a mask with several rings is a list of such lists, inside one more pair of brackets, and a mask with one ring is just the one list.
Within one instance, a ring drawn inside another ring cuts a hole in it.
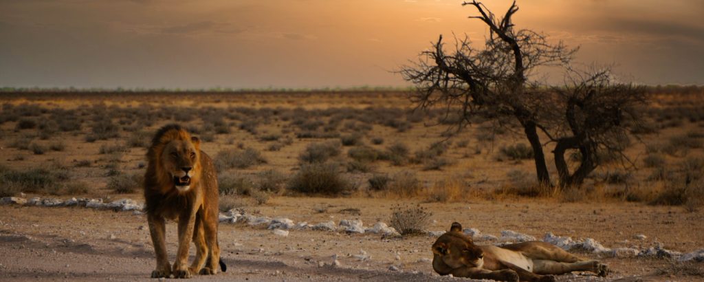
[{"label": "shorter, bushier bare tree with crooked trunk, right of the taller one", "polygon": [[[543,123],[558,121],[551,126],[555,135],[553,154],[560,186],[579,186],[599,164],[611,159],[630,163],[623,151],[630,143],[630,130],[642,126],[637,108],[646,101],[645,87],[617,82],[609,68],[591,73],[572,71],[567,83],[553,87],[555,114]],[[579,151],[579,166],[570,173],[565,161],[567,150]]]}]

